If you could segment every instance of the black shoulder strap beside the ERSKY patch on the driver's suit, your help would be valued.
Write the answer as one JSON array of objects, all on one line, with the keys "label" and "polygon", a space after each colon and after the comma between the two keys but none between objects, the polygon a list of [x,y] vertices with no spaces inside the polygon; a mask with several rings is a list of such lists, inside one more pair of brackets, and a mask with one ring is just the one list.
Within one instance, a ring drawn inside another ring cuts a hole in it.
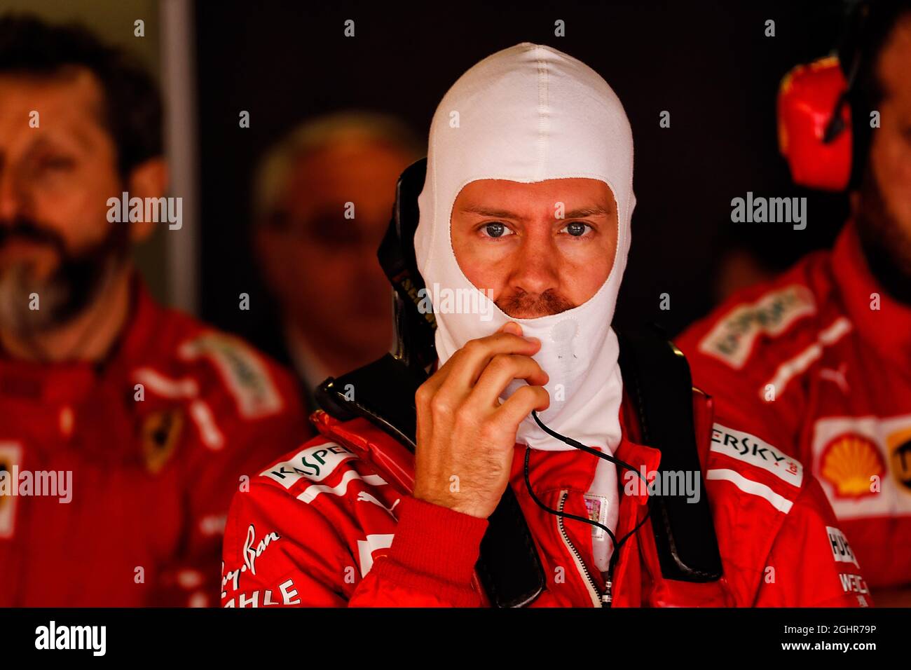
[{"label": "black shoulder strap beside the ERSKY patch on the driver's suit", "polygon": [[683,496],[652,496],[651,526],[661,573],[681,582],[714,582],[722,577],[715,524],[702,480],[692,418],[690,366],[657,326],[618,333],[619,364],[627,395],[639,417],[642,441],[661,452],[664,472],[699,474],[698,502]]}]

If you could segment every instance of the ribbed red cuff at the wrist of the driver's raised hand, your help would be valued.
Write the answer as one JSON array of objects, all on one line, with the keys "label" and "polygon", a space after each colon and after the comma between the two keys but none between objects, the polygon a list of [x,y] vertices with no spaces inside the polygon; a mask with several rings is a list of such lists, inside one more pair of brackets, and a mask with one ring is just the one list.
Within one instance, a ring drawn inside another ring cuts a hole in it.
[{"label": "ribbed red cuff at the wrist of the driver's raised hand", "polygon": [[405,497],[386,557],[406,572],[471,588],[487,520]]}]

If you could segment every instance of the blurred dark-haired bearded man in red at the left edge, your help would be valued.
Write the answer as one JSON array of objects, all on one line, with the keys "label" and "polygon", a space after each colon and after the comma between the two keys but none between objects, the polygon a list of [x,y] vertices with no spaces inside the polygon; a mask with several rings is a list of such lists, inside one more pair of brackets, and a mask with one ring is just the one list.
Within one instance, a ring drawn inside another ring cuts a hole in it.
[{"label": "blurred dark-haired bearded man in red at the left edge", "polygon": [[0,606],[216,603],[241,476],[306,435],[291,376],[134,270],[179,213],[161,125],[117,50],[0,18]]}]

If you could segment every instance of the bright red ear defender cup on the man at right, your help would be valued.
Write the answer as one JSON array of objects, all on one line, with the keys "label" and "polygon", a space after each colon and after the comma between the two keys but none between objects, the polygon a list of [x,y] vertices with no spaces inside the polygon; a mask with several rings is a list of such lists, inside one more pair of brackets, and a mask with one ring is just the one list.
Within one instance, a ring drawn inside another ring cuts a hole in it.
[{"label": "bright red ear defender cup on the man at right", "polygon": [[794,67],[778,89],[778,148],[800,186],[843,191],[851,176],[851,108],[838,58]]}]

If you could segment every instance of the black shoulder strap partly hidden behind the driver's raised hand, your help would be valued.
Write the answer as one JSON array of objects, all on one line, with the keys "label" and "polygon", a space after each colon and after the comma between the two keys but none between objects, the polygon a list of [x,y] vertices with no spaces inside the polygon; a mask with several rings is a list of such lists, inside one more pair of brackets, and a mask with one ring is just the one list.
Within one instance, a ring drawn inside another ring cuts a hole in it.
[{"label": "black shoulder strap partly hidden behind the driver's raised hand", "polygon": [[[364,417],[415,451],[415,392],[424,382],[399,359],[386,354],[370,365],[330,377],[316,398],[332,417]],[[544,568],[516,494],[507,487],[488,520],[476,570],[490,602],[521,607],[544,591]]]}]

